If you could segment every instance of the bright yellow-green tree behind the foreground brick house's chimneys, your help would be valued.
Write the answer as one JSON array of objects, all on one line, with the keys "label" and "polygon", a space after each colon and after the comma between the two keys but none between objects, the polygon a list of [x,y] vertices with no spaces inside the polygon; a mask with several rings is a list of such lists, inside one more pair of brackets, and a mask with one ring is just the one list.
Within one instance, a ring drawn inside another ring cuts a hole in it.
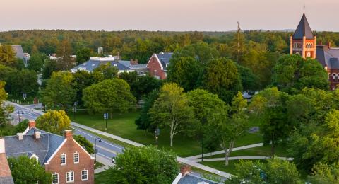
[{"label": "bright yellow-green tree behind the foreground brick house's chimneys", "polygon": [[71,120],[64,110],[49,110],[37,117],[37,128],[46,132],[62,135],[71,129]]}]

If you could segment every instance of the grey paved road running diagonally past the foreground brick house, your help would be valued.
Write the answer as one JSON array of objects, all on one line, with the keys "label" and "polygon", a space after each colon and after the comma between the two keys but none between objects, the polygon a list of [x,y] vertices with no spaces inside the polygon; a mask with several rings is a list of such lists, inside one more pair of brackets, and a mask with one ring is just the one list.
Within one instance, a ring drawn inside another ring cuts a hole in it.
[{"label": "grey paved road running diagonally past the foreground brick house", "polygon": [[[16,103],[11,103],[11,105],[13,105],[15,108],[14,112],[11,114],[13,125],[16,125],[19,122],[19,116],[20,116],[20,120],[22,121],[25,119],[36,120],[37,117],[42,115],[42,112],[40,110],[34,110],[31,107],[26,107],[24,105],[18,105]],[[95,137],[96,137],[95,135],[85,130],[82,130],[78,127],[72,126],[72,128],[74,130],[73,134],[81,135],[85,137],[86,139],[88,139],[88,141],[90,141],[94,145]],[[115,157],[117,156],[117,154],[122,153],[124,149],[123,146],[112,144],[102,138],[100,139],[101,139],[101,142],[98,139],[96,142],[97,156],[102,156],[105,159],[112,161],[112,157]]]}]

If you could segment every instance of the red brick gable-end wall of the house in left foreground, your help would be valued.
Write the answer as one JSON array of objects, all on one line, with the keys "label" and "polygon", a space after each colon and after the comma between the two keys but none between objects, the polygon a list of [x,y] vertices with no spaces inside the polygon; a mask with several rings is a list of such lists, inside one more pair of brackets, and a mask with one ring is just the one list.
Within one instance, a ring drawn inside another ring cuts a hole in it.
[{"label": "red brick gable-end wall of the house in left foreground", "polygon": [[[69,135],[68,135],[69,136]],[[74,163],[73,154],[79,153],[79,163]],[[66,165],[61,166],[61,154],[66,154]],[[45,165],[47,171],[59,173],[59,183],[66,183],[66,173],[74,171],[73,183],[94,183],[94,159],[85,152],[81,146],[68,137],[66,143],[57,151],[57,154]],[[88,170],[88,180],[81,180],[81,171]]]}]

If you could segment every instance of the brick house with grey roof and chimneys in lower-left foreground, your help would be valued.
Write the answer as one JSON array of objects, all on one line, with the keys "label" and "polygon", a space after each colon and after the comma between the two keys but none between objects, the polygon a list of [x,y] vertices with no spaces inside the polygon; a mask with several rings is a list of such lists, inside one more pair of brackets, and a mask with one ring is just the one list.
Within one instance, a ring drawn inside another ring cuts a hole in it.
[{"label": "brick house with grey roof and chimneys in lower-left foreground", "polygon": [[37,159],[52,173],[54,184],[94,183],[94,158],[73,139],[71,130],[59,136],[37,129],[35,121],[30,120],[25,132],[0,137],[0,144],[1,140],[6,156]]}]

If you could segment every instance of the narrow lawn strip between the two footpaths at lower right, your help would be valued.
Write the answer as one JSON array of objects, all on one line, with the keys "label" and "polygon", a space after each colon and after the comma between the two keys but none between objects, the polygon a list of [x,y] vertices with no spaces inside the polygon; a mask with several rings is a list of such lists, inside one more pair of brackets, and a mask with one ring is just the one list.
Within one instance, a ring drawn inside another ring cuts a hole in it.
[{"label": "narrow lawn strip between the two footpaths at lower right", "polygon": [[[275,155],[287,157],[287,151],[285,146],[278,146],[275,148]],[[232,151],[230,156],[270,156],[270,146],[259,146],[255,148],[243,149],[239,151]],[[216,154],[213,156],[203,157],[205,159],[223,158],[224,154]]]}]

